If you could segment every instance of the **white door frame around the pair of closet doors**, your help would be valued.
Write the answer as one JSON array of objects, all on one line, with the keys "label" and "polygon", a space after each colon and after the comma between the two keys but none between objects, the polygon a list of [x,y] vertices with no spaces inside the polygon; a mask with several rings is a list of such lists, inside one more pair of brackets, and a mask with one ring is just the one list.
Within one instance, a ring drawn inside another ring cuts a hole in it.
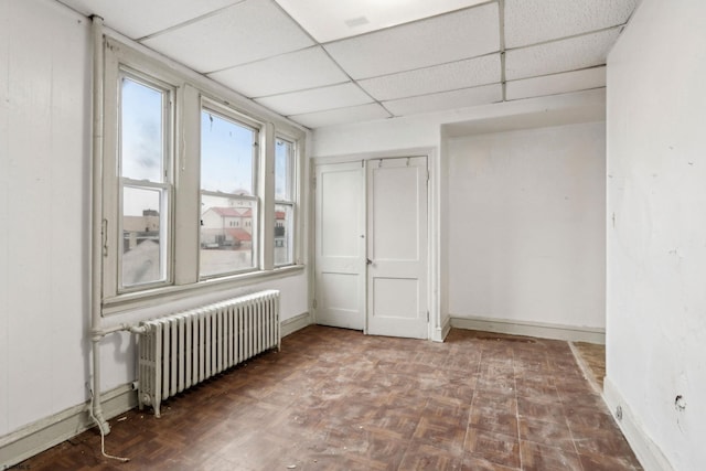
[{"label": "white door frame around the pair of closet doors", "polygon": [[[407,158],[407,157],[426,157],[427,158],[427,171],[429,172],[429,183],[427,189],[427,309],[429,311],[428,322],[428,339],[435,342],[443,342],[446,334],[448,333],[449,325],[441,322],[441,283],[440,283],[440,234],[441,234],[441,205],[440,205],[440,161],[438,157],[438,150],[436,148],[409,148],[398,149],[391,151],[376,151],[376,152],[362,152],[344,156],[332,157],[317,157],[310,159],[309,165],[309,179],[311,182],[311,200],[310,205],[312,212],[310,217],[310,234],[309,237],[309,263],[311,264],[311,295],[312,301],[317,298],[315,293],[315,280],[313,275],[315,272],[315,189],[314,176],[317,174],[317,165],[328,163],[345,163],[345,162],[361,162],[361,165],[365,164],[367,160],[376,159],[389,159],[389,158]],[[315,307],[313,302],[310,303],[312,308],[312,319],[315,322]],[[367,300],[365,302],[365,333],[367,333]],[[448,317],[447,317],[448,319]]]}]

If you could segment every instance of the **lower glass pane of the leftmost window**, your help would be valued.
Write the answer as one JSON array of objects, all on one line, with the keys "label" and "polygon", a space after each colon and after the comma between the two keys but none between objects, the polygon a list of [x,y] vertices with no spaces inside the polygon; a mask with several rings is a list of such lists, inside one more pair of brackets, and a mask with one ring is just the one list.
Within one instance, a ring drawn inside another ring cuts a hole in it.
[{"label": "lower glass pane of the leftmost window", "polygon": [[161,224],[162,190],[126,186],[122,191],[122,286],[165,279],[167,237]]}]

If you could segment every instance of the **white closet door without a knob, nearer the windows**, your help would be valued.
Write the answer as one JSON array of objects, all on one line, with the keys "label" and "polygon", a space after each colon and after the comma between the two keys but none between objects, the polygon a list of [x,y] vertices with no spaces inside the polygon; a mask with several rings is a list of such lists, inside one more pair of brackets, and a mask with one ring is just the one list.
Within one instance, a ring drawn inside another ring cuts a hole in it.
[{"label": "white closet door without a knob, nearer the windows", "polygon": [[365,173],[317,165],[315,322],[365,329]]}]

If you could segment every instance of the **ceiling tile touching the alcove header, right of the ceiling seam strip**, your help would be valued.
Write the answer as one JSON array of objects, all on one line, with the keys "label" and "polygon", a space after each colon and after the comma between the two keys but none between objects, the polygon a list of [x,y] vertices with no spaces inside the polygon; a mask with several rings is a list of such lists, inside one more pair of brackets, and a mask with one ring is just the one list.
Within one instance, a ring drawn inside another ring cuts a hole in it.
[{"label": "ceiling tile touching the alcove header, right of the ceiling seam strip", "polygon": [[606,86],[606,67],[507,82],[506,99],[531,98]]}]

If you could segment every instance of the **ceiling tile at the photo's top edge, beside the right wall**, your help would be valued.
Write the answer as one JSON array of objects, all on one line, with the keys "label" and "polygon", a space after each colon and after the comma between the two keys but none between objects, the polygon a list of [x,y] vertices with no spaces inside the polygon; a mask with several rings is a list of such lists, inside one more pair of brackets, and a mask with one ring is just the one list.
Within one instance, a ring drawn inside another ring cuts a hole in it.
[{"label": "ceiling tile at the photo's top edge, beside the right wall", "polygon": [[639,0],[505,0],[505,46],[518,47],[623,24]]}]

